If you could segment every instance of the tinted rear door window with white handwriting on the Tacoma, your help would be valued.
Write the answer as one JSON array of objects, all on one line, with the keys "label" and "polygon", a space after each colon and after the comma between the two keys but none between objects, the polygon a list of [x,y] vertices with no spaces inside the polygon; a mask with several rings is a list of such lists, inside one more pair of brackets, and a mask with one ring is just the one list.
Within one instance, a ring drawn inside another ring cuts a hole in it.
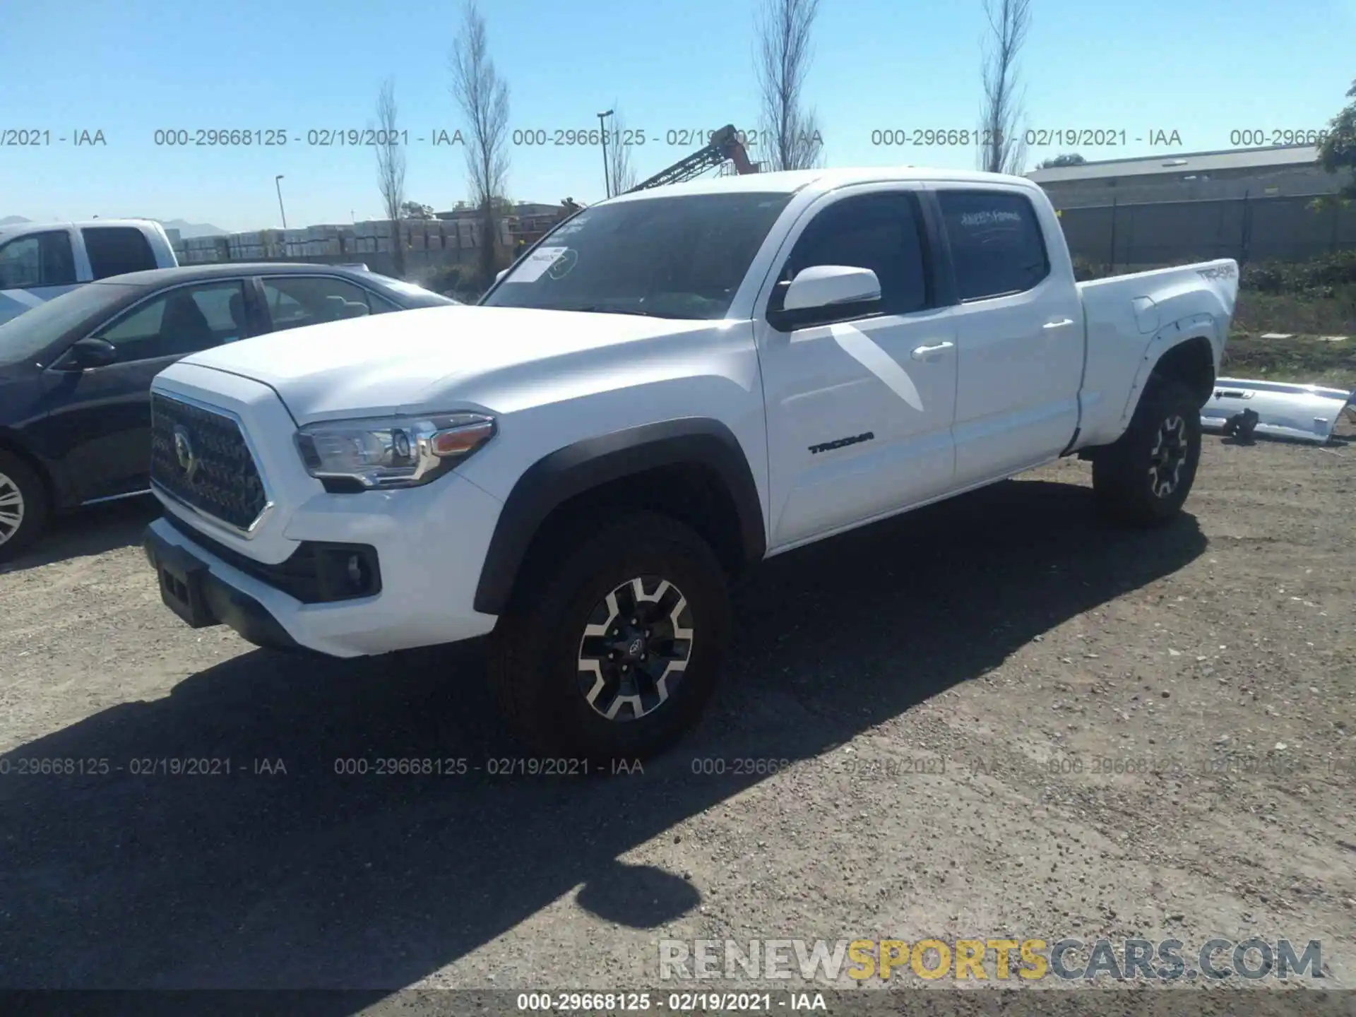
[{"label": "tinted rear door window with white handwriting on the Tacoma", "polygon": [[1050,275],[1036,210],[1010,191],[938,191],[961,301],[1025,293]]}]

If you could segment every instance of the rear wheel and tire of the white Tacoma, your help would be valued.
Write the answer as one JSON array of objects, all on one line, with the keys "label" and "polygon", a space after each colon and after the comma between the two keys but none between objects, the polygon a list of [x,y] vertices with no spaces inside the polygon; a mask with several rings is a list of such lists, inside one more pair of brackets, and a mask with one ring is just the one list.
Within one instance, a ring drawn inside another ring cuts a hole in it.
[{"label": "rear wheel and tire of the white Tacoma", "polygon": [[1093,458],[1101,513],[1161,526],[1181,513],[1200,464],[1200,404],[1180,381],[1151,381],[1130,428]]}]

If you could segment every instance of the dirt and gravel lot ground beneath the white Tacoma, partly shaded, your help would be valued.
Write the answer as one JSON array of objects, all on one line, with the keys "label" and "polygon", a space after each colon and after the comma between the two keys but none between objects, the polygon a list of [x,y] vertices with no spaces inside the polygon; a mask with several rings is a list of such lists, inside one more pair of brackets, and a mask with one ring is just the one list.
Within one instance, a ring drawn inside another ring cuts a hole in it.
[{"label": "dirt and gravel lot ground beneath the white Tacoma, partly shaded", "polygon": [[[190,631],[153,507],[85,514],[0,574],[0,984],[625,989],[664,938],[1008,932],[1317,938],[1353,987],[1353,509],[1356,445],[1207,437],[1168,530],[1066,461],[776,559],[700,730],[603,778],[490,774],[479,647]],[[469,765],[335,773],[389,757]],[[231,773],[132,772],[167,758]]]}]

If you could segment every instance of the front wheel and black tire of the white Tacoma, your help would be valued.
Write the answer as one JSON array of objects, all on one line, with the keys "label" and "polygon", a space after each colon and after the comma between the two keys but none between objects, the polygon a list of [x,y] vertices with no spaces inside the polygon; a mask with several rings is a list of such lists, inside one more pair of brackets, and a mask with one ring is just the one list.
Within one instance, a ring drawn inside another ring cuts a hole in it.
[{"label": "front wheel and black tire of the white Tacoma", "polygon": [[[488,663],[530,744],[605,765],[662,753],[697,720],[724,658],[730,595],[712,549],[674,519],[629,513],[591,529],[540,556],[564,552],[515,591]],[[637,583],[658,599],[637,599]]]}]

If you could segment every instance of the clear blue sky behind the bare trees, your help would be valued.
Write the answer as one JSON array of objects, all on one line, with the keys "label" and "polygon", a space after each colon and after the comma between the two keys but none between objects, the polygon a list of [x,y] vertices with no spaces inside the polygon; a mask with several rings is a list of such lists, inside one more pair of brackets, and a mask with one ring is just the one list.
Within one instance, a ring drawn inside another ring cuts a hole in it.
[{"label": "clear blue sky behind the bare trees", "polygon": [[[647,176],[686,149],[667,133],[757,126],[757,0],[675,4],[483,0],[518,130],[587,129],[617,103],[644,130]],[[1032,129],[1127,134],[1088,159],[1230,148],[1235,130],[1321,129],[1356,79],[1356,0],[1033,0],[1021,56]],[[152,216],[225,229],[380,217],[370,149],[306,144],[361,129],[392,75],[411,138],[461,126],[449,92],[456,0],[0,0],[0,217]],[[974,127],[980,0],[822,0],[807,96],[830,165],[972,167],[972,148],[884,146],[880,129]],[[157,129],[285,129],[283,148],[157,146]],[[106,144],[75,148],[75,132]],[[1135,138],[1143,138],[1136,142]],[[0,138],[3,140],[3,138]],[[1062,148],[1032,149],[1029,164]],[[602,197],[597,148],[511,149],[510,197]],[[412,142],[407,193],[438,209],[466,197],[464,149]]]}]

